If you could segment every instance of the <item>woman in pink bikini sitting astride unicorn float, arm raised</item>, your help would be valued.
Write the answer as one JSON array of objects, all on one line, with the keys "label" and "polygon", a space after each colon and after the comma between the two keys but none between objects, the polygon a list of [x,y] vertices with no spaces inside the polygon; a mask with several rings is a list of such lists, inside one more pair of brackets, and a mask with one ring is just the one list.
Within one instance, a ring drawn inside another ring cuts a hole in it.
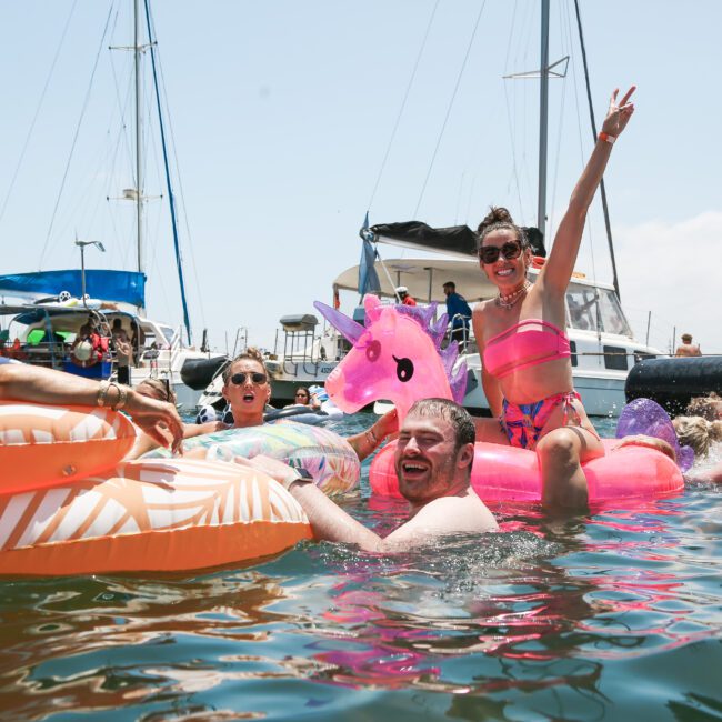
[{"label": "woman in pink bikini sitting astride unicorn float, arm raised", "polygon": [[546,505],[586,505],[586,479],[580,464],[604,453],[573,388],[564,293],[586,211],[612,146],[634,112],[629,102],[634,90],[619,104],[619,91],[612,93],[592,156],[533,285],[527,279],[531,248],[509,211],[492,209],[478,230],[479,263],[499,295],[479,303],[472,322],[482,353],[484,393],[501,422],[479,420],[478,440],[535,450]]}]

